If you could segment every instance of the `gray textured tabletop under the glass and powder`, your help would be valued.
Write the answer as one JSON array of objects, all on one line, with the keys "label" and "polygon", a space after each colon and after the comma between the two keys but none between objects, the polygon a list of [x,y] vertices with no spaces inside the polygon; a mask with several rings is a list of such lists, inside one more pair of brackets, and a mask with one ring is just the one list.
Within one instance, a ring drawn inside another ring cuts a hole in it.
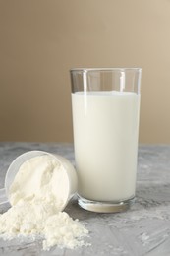
[{"label": "gray textured tabletop under the glass and powder", "polygon": [[[60,154],[74,163],[71,144],[0,143],[0,187],[12,160],[29,150]],[[0,207],[0,213],[8,205]],[[170,255],[170,146],[140,146],[137,198],[132,208],[119,214],[95,214],[70,202],[66,212],[89,230],[89,247],[75,250],[41,250],[41,243],[19,243],[0,239],[0,255]]]}]

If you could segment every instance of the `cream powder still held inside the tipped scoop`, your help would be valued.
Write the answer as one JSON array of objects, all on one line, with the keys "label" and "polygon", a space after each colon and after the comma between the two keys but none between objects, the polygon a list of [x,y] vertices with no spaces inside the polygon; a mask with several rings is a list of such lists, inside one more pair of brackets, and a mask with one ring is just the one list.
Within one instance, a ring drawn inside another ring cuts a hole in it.
[{"label": "cream powder still held inside the tipped scoop", "polygon": [[63,165],[51,155],[26,160],[15,176],[10,187],[11,205],[20,200],[55,202],[62,210],[69,194],[69,180]]}]

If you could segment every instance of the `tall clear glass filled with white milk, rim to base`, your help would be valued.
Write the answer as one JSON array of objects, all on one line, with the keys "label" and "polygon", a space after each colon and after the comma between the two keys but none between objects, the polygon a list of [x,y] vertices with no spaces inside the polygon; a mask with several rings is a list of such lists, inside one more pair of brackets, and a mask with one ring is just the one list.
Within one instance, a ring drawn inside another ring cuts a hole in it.
[{"label": "tall clear glass filled with white milk, rim to base", "polygon": [[141,68],[71,69],[78,203],[125,211],[134,202]]}]

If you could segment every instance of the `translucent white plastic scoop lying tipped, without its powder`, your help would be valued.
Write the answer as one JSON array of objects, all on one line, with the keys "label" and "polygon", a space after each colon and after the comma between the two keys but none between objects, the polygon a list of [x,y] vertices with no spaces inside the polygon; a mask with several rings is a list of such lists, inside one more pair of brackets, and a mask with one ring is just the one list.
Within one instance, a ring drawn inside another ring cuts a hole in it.
[{"label": "translucent white plastic scoop lying tipped, without its powder", "polygon": [[52,158],[57,160],[63,166],[63,171],[65,171],[65,173],[67,174],[69,180],[69,190],[63,208],[66,207],[69,200],[77,191],[78,179],[76,170],[69,160],[63,158],[62,156],[51,154],[44,151],[28,151],[12,161],[5,176],[5,187],[0,189],[0,205],[9,202],[9,190],[21,165],[26,160],[30,160],[31,158],[43,155],[51,156]]}]

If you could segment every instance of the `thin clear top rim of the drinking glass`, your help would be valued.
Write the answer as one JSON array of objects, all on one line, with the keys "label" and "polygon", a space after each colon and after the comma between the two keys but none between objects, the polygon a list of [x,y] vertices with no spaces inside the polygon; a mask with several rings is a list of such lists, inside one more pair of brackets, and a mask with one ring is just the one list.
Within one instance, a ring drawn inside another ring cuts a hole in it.
[{"label": "thin clear top rim of the drinking glass", "polygon": [[70,72],[88,72],[88,71],[138,71],[142,72],[142,68],[136,67],[136,68],[72,68],[70,69]]}]

